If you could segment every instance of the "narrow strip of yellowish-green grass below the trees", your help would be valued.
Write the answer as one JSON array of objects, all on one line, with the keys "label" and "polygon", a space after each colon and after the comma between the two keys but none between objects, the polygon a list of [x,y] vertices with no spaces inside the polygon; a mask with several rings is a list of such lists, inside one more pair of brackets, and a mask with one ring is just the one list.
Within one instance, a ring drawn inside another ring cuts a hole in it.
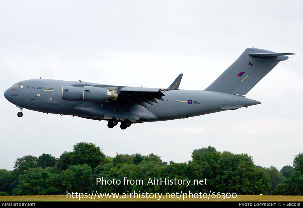
[{"label": "narrow strip of yellowish-green grass below the trees", "polygon": [[[177,198],[178,197],[178,198]],[[185,196],[184,196],[185,197]],[[94,196],[93,196],[94,198]],[[230,199],[212,199],[209,197],[209,199],[184,199],[183,196],[180,195],[175,196],[175,198],[165,199],[162,198],[160,200],[159,197],[150,199],[150,198],[144,198],[144,199],[124,199],[118,197],[118,199],[112,198],[104,198],[104,199],[90,199],[90,195],[88,195],[87,198],[82,198],[80,201],[239,201],[239,202],[249,202],[249,201],[255,201],[255,202],[288,202],[288,201],[303,201],[303,196],[254,196],[254,195],[238,195],[236,198],[230,198]],[[9,201],[23,201],[23,202],[42,202],[42,201],[79,201],[79,198],[66,198],[66,195],[60,195],[60,196],[0,196],[1,202],[9,202]]]}]

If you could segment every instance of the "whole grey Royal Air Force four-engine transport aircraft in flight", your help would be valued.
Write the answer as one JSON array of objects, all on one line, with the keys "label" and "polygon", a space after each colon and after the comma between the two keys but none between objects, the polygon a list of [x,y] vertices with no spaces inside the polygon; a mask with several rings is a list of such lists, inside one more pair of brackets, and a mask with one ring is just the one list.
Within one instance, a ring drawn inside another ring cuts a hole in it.
[{"label": "whole grey Royal Air Force four-engine transport aircraft in flight", "polygon": [[132,123],[184,119],[260,104],[245,98],[280,61],[293,53],[248,48],[205,90],[179,90],[183,74],[166,89],[29,79],[8,88],[5,98],[22,109],[107,120],[108,128]]}]

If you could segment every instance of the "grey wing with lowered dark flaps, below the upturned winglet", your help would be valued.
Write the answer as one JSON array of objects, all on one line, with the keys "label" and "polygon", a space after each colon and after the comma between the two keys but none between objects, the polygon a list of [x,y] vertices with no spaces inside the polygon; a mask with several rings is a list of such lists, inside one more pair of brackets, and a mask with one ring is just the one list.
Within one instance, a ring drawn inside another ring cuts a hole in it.
[{"label": "grey wing with lowered dark flaps, below the upturned winglet", "polygon": [[165,90],[159,88],[146,88],[146,87],[122,87],[118,91],[118,97],[123,97],[131,102],[135,102],[141,106],[148,107],[159,103],[158,100],[164,101],[162,98]]}]

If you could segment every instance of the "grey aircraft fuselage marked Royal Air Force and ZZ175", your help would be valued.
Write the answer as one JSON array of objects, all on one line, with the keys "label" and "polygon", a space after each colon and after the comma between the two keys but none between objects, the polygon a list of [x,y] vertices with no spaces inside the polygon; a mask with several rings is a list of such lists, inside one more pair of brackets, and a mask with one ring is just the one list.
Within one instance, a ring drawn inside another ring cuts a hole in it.
[{"label": "grey aircraft fuselage marked Royal Air Force and ZZ175", "polygon": [[[127,99],[107,102],[67,101],[62,99],[62,87],[70,85],[90,86],[95,83],[84,81],[62,81],[31,79],[18,82],[5,91],[5,98],[20,108],[45,113],[80,116],[90,119],[118,120],[132,122],[163,121],[238,109],[260,102],[244,96],[211,92],[205,90],[165,91],[162,100],[154,105],[142,106]],[[107,88],[121,88],[107,86]],[[118,92],[119,94],[119,92]]]}]

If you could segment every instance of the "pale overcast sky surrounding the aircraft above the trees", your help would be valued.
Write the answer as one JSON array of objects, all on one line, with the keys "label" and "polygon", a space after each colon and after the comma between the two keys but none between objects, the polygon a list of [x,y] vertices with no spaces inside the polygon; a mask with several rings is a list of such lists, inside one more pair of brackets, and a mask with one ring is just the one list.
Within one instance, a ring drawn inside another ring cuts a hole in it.
[{"label": "pale overcast sky surrounding the aircraft above the trees", "polygon": [[303,152],[302,55],[280,62],[247,98],[261,102],[188,119],[133,124],[20,110],[3,96],[26,79],[119,86],[208,87],[249,47],[303,54],[303,1],[0,0],[0,169],[17,158],[59,157],[79,142],[107,156],[154,153],[191,160],[194,149],[247,153],[255,165],[293,166]]}]

